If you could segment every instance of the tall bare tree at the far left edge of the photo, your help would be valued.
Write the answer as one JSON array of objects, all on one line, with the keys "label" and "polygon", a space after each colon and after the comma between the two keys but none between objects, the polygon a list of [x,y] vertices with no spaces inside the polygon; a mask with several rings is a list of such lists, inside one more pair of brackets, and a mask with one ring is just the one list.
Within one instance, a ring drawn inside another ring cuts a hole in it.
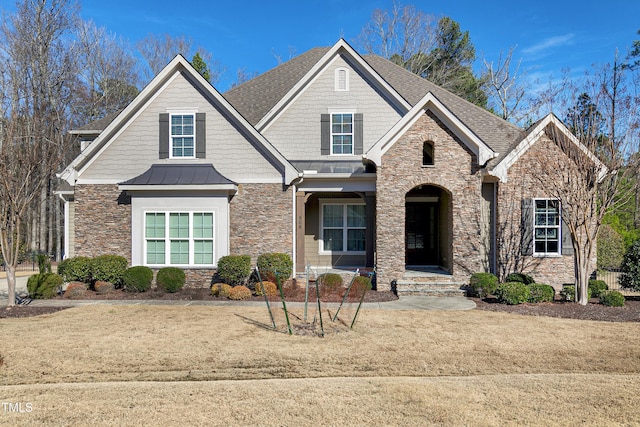
[{"label": "tall bare tree at the far left edge of the photo", "polygon": [[76,78],[63,40],[75,27],[77,10],[72,0],[23,0],[0,27],[0,248],[9,306],[28,210],[64,153]]}]

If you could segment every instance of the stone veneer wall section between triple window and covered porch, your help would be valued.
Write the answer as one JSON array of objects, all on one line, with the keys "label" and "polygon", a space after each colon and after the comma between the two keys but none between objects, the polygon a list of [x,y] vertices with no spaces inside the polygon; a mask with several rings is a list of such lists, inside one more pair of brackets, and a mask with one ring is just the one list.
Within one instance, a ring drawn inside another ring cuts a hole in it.
[{"label": "stone veneer wall section between triple window and covered porch", "polygon": [[267,252],[292,255],[292,190],[282,184],[239,184],[230,202],[231,255],[258,256]]}]

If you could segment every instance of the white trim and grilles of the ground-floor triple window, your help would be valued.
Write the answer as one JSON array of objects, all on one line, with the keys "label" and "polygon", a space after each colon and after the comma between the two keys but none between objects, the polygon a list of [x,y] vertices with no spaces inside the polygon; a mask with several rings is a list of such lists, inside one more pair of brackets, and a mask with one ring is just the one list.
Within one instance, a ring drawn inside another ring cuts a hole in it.
[{"label": "white trim and grilles of the ground-floor triple window", "polygon": [[[147,237],[147,214],[164,214],[165,215],[165,223],[164,223],[164,237],[162,238],[148,238]],[[188,214],[189,215],[189,236],[179,237],[179,238],[171,238],[169,234],[170,230],[170,216],[171,214]],[[195,214],[211,214],[212,225],[211,225],[211,233],[212,237],[201,238],[194,237],[193,232],[193,217]],[[193,209],[193,210],[184,210],[184,209],[171,209],[171,210],[162,210],[162,209],[144,209],[142,210],[142,265],[146,265],[152,268],[161,268],[161,267],[181,267],[181,268],[213,268],[216,263],[216,213],[213,210],[206,209]],[[148,241],[150,240],[164,240],[164,264],[152,264],[147,262],[147,249],[148,249]],[[186,240],[188,241],[189,248],[189,262],[187,264],[172,264],[171,263],[171,241],[172,240]],[[212,247],[211,254],[211,263],[207,264],[196,264],[195,263],[195,242],[196,241],[210,241]]]}]

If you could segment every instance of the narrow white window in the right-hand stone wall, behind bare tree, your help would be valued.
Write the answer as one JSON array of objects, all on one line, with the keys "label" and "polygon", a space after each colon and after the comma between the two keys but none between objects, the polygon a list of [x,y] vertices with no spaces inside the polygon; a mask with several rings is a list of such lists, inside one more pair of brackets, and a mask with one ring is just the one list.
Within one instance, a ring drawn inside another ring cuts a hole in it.
[{"label": "narrow white window in the right-hand stone wall, behind bare tree", "polygon": [[559,255],[560,202],[555,199],[535,199],[533,215],[533,253]]}]

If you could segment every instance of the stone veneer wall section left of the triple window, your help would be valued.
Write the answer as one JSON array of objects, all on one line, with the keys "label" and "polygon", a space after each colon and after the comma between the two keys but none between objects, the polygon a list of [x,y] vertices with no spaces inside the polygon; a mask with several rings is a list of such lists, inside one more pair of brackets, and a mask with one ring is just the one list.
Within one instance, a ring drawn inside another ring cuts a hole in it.
[{"label": "stone veneer wall section left of the triple window", "polygon": [[113,184],[76,185],[75,256],[115,254],[131,263],[131,199]]}]

